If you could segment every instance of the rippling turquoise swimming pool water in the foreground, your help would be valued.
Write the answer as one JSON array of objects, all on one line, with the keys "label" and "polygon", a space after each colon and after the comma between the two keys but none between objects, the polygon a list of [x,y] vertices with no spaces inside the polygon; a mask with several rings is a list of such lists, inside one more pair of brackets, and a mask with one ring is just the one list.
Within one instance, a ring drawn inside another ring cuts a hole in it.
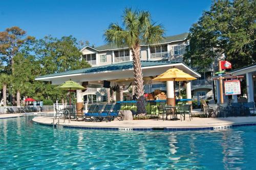
[{"label": "rippling turquoise swimming pool water in the foreground", "polygon": [[256,127],[226,131],[53,129],[0,119],[0,169],[255,169]]}]

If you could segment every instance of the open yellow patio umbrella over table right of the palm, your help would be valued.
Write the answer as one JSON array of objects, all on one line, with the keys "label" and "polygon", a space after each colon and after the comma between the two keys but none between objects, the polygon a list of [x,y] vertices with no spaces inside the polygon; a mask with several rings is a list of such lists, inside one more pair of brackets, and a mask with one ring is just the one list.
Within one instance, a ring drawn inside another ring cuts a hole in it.
[{"label": "open yellow patio umbrella over table right of the palm", "polygon": [[[163,74],[159,75],[158,77],[153,79],[154,81],[189,81],[189,80],[196,80],[193,76],[183,72],[178,68],[170,68],[165,71]],[[175,97],[175,83],[174,83],[174,97]],[[175,104],[175,100],[174,100]]]}]

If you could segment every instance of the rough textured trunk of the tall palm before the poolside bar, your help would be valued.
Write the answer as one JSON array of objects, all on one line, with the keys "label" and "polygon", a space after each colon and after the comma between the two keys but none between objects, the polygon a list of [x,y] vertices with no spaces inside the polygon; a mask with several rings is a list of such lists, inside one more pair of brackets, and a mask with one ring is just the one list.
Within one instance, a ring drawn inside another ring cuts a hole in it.
[{"label": "rough textured trunk of the tall palm before the poolside bar", "polygon": [[145,114],[144,106],[144,85],[143,85],[143,74],[140,62],[140,45],[136,44],[132,48],[133,53],[133,67],[134,67],[134,79],[135,79],[135,95],[137,98],[137,114]]}]

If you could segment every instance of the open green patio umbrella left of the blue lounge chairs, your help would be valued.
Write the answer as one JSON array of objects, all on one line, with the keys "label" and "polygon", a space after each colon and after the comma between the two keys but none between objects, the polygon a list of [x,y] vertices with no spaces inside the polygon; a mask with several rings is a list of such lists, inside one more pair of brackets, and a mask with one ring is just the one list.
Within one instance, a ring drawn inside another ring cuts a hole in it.
[{"label": "open green patio umbrella left of the blue lounge chairs", "polygon": [[61,89],[61,90],[69,90],[69,106],[71,106],[71,90],[83,90],[86,89],[83,86],[81,86],[80,84],[73,82],[71,80],[66,81],[65,83],[54,87],[55,89]]}]

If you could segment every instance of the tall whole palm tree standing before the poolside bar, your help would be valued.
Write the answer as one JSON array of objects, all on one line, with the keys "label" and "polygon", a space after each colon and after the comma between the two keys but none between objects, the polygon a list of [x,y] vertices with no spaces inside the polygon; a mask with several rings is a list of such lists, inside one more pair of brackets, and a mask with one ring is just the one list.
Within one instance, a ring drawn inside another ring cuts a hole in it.
[{"label": "tall whole palm tree standing before the poolside bar", "polygon": [[140,45],[159,43],[163,39],[164,30],[161,25],[152,23],[151,15],[147,11],[125,9],[122,19],[124,28],[118,23],[111,23],[104,37],[106,43],[119,47],[128,46],[132,51],[137,113],[145,113],[143,75],[139,57]]}]

